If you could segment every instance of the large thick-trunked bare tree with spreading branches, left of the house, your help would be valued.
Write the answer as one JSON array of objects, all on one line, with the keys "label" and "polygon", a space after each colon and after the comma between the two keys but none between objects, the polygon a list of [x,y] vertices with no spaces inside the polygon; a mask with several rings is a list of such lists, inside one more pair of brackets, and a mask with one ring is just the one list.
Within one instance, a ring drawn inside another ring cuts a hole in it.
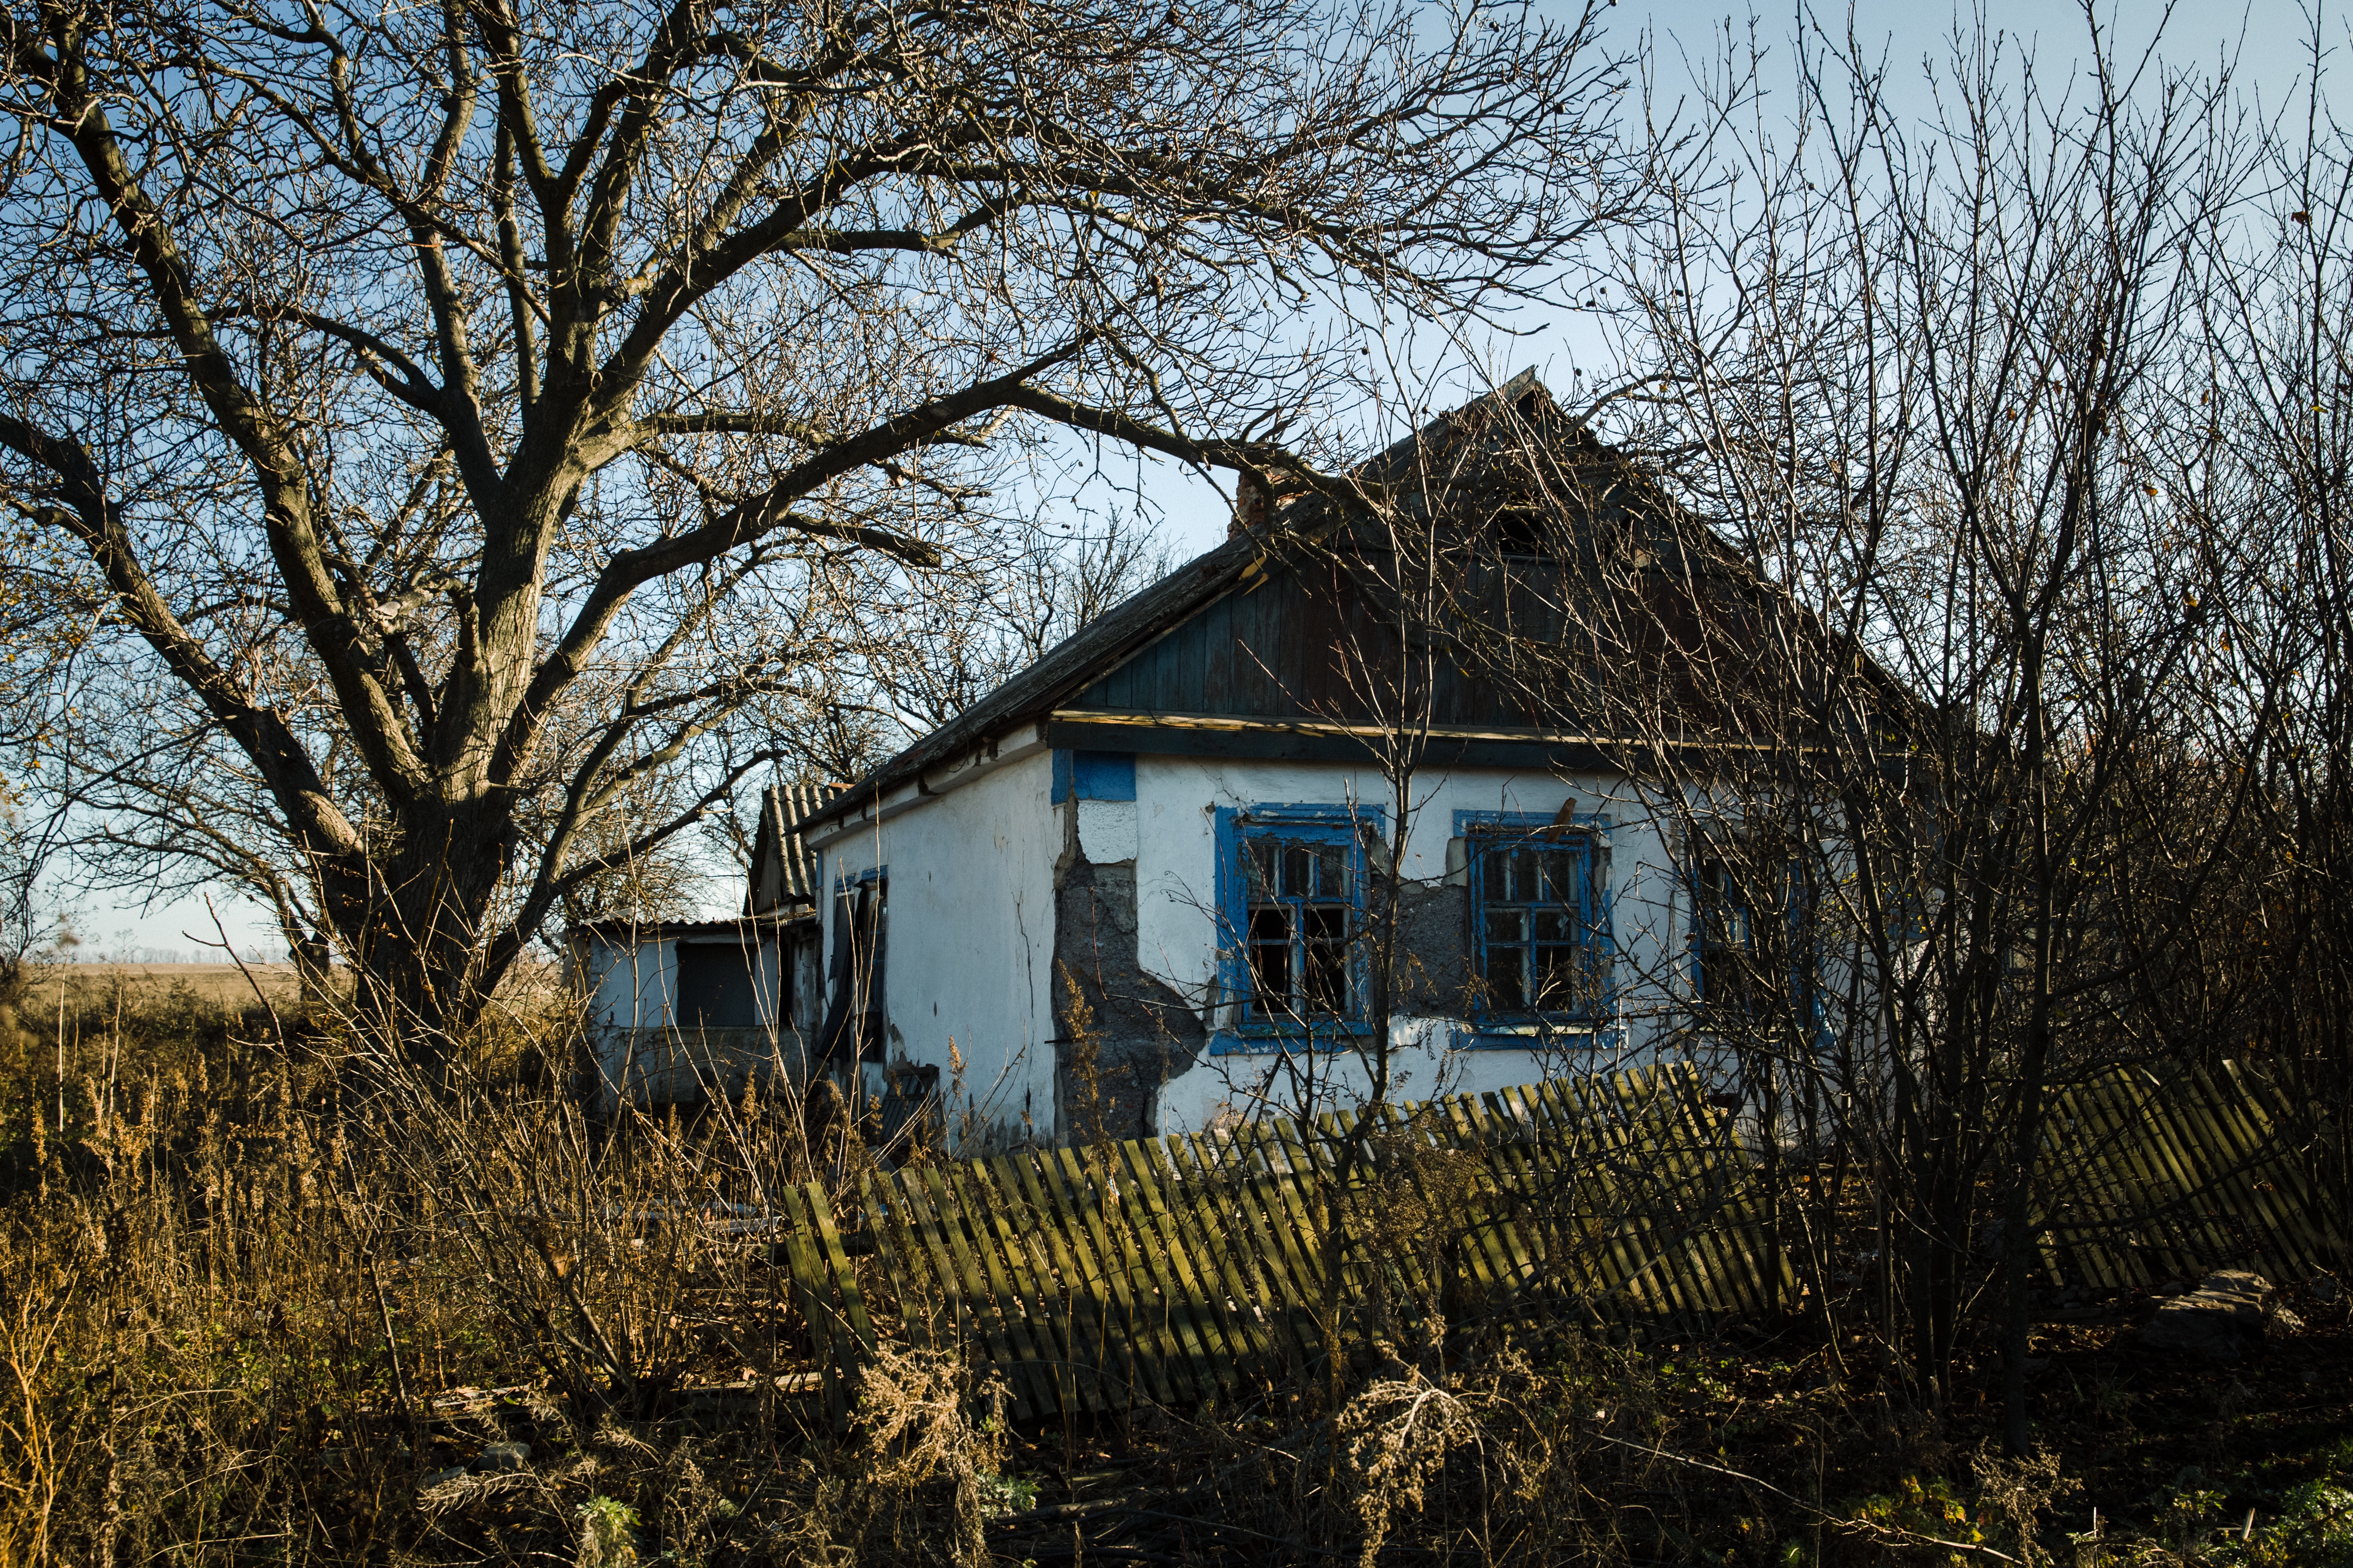
[{"label": "large thick-trunked bare tree with spreading branches, left of the house", "polygon": [[1000,569],[1026,442],[1318,477],[1348,322],[1626,209],[1614,89],[1485,0],[12,12],[0,449],[106,604],[78,788],[433,1056],[762,703]]}]

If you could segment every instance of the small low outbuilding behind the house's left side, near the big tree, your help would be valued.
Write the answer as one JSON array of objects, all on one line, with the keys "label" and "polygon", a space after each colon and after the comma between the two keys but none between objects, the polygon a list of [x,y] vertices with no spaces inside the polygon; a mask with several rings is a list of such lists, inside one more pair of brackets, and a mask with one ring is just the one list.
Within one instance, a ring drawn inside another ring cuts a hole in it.
[{"label": "small low outbuilding behind the house's left side, near the big tree", "polygon": [[762,792],[741,917],[614,919],[567,933],[602,1112],[807,1079],[821,1018],[816,882],[793,823],[821,797],[814,785]]}]

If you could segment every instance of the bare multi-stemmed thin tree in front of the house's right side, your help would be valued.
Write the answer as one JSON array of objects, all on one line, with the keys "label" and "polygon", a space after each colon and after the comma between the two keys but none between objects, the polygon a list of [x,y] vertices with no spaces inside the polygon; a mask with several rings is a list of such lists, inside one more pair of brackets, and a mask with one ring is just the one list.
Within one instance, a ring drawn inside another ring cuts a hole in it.
[{"label": "bare multi-stemmed thin tree in front of the house's right side", "polygon": [[[1666,827],[1642,990],[1741,1095],[1809,1300],[1861,1175],[1878,1234],[1845,1246],[1885,1293],[1854,1326],[1934,1406],[1991,1324],[2014,1450],[2066,1199],[2045,1128],[2104,1070],[2245,1039],[2257,976],[2217,947],[2261,912],[2264,762],[2334,635],[2301,618],[2325,529],[2200,498],[2217,306],[2315,299],[2247,270],[2266,136],[2226,82],[2087,31],[2064,92],[1955,35],[1925,125],[1861,40],[1807,31],[1769,129],[1727,40],[1711,115],[1753,129],[1588,289],[1628,369],[1591,414],[1635,461],[1546,480],[1574,632],[1447,616]],[[2289,357],[2273,386],[2308,386]]]}]

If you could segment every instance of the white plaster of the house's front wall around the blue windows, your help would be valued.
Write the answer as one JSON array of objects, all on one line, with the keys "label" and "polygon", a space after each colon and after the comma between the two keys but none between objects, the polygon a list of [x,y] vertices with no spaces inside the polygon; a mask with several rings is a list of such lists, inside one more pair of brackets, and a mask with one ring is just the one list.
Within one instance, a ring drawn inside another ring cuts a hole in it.
[{"label": "white plaster of the house's front wall around the blue windows", "polygon": [[[1475,1093],[1567,1072],[1595,1072],[1647,1060],[1668,1013],[1664,976],[1680,952],[1680,898],[1659,823],[1617,776],[1560,778],[1548,771],[1459,769],[1414,780],[1400,872],[1435,882],[1447,875],[1447,839],[1457,811],[1553,813],[1577,795],[1579,816],[1609,820],[1612,933],[1619,987],[1617,1030],[1600,1046],[1574,1051],[1452,1048],[1452,1020],[1402,1018],[1393,1025],[1393,1084],[1400,1098]],[[1348,804],[1393,811],[1377,769],[1311,762],[1219,757],[1136,757],[1136,945],[1144,969],[1179,994],[1205,1001],[1217,978],[1217,806]],[[1094,856],[1089,856],[1094,858]],[[1273,1053],[1202,1056],[1160,1093],[1160,1131],[1198,1131],[1233,1117],[1362,1098],[1362,1056]]]}]

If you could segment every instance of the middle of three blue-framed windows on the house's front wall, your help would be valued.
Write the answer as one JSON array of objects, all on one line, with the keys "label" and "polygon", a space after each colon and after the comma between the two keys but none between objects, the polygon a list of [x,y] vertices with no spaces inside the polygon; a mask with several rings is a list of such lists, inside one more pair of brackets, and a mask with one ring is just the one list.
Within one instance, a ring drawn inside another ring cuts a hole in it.
[{"label": "middle of three blue-framed windows on the house's front wall", "polygon": [[1471,872],[1473,1016],[1482,1025],[1609,1013],[1609,893],[1600,818],[1459,811]]}]

